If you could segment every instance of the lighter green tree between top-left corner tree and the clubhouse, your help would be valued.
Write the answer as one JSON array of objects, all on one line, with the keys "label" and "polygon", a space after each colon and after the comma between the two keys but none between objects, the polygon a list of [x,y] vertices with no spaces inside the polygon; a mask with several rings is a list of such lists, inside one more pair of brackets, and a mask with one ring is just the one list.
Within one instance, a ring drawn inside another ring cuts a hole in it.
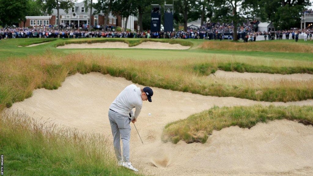
[{"label": "lighter green tree between top-left corner tree and the clubhouse", "polygon": [[26,8],[21,13],[23,13],[23,18],[21,21],[24,22],[24,28],[26,23],[26,16],[40,16],[43,15],[41,11],[40,0],[26,0]]}]

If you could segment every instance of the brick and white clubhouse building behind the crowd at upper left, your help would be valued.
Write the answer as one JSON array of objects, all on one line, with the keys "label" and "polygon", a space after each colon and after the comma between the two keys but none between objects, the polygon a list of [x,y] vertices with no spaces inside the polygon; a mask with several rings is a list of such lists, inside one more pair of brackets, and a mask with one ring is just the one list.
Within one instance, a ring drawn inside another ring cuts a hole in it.
[{"label": "brick and white clubhouse building behind the crowd at upper left", "polygon": [[[83,24],[90,24],[90,8],[85,8],[85,3],[75,3],[73,8],[69,9],[66,13],[64,9],[60,9],[60,24],[64,24],[67,28],[82,28]],[[92,13],[96,12],[93,8]],[[59,24],[57,9],[53,9],[52,14],[46,14],[45,16],[26,16],[26,23],[20,22],[20,27],[49,27],[49,25]],[[100,11],[100,13],[91,16],[91,25],[94,28],[101,28],[104,25],[105,14]],[[109,26],[120,26],[124,28],[126,18],[121,18],[121,16],[115,16],[111,12],[109,13],[109,18],[107,24]],[[134,16],[128,17],[127,28],[131,30],[137,29],[137,18]]]}]

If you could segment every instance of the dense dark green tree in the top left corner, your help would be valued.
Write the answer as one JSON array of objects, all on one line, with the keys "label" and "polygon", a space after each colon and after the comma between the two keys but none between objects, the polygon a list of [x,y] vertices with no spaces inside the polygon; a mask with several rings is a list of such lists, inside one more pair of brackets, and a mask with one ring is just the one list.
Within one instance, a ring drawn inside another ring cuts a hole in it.
[{"label": "dense dark green tree in the top left corner", "polygon": [[25,0],[0,0],[0,25],[18,24],[25,16]]}]

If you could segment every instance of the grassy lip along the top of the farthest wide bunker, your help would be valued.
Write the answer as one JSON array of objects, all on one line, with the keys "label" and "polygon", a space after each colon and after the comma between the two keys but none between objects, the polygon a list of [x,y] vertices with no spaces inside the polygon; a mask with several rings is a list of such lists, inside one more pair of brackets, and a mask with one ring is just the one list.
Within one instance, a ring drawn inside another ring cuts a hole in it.
[{"label": "grassy lip along the top of the farthest wide bunker", "polygon": [[181,44],[182,46],[192,46],[192,42],[186,40],[172,40],[172,39],[126,39],[126,38],[96,38],[96,39],[69,39],[62,42],[59,42],[55,45],[55,47],[63,46],[66,44],[84,44],[84,43],[105,43],[105,42],[123,42],[128,44],[128,46],[136,46],[141,44],[142,42],[162,42],[162,43],[170,43],[170,44]]}]

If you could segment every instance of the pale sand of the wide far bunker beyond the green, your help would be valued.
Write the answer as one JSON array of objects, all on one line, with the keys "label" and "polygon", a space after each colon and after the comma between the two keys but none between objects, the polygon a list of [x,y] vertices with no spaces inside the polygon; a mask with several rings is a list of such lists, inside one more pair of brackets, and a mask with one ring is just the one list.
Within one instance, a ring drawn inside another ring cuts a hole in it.
[{"label": "pale sand of the wide far bunker beyond the green", "polygon": [[190,46],[182,46],[180,44],[169,44],[162,42],[142,42],[139,45],[129,47],[124,42],[105,42],[105,43],[92,43],[92,44],[66,44],[64,46],[58,46],[60,49],[84,49],[84,48],[141,48],[141,49],[189,49]]}]

